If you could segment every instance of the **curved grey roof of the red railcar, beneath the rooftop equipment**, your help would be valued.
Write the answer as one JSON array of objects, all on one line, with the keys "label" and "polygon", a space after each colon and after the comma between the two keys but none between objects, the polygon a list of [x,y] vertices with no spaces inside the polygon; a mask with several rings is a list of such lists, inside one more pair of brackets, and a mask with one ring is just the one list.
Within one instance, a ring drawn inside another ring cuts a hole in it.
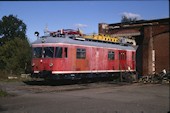
[{"label": "curved grey roof of the red railcar, beneath the rooftop equipment", "polygon": [[118,48],[122,50],[135,50],[132,46],[123,46],[120,44],[113,44],[113,43],[104,43],[104,42],[94,42],[94,41],[80,41],[71,39],[69,37],[45,37],[45,38],[38,38],[32,44],[40,44],[44,40],[44,43],[67,43],[67,44],[76,44],[76,45],[88,45],[88,46],[96,46],[96,47],[106,47],[106,48]]}]

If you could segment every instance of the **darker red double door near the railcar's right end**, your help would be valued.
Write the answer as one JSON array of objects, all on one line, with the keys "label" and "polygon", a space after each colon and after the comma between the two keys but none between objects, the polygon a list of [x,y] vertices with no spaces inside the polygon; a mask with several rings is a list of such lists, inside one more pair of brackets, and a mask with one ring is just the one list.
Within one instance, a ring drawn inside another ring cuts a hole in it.
[{"label": "darker red double door near the railcar's right end", "polygon": [[127,63],[126,63],[126,51],[119,50],[119,70],[126,70]]}]

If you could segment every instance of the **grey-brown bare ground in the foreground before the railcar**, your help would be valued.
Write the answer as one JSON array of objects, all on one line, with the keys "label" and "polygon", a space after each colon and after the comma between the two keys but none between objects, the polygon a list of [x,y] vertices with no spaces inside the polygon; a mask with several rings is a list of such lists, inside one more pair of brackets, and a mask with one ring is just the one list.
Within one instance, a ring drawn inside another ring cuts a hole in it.
[{"label": "grey-brown bare ground in the foreground before the railcar", "polygon": [[168,113],[169,85],[97,82],[0,82],[1,113]]}]

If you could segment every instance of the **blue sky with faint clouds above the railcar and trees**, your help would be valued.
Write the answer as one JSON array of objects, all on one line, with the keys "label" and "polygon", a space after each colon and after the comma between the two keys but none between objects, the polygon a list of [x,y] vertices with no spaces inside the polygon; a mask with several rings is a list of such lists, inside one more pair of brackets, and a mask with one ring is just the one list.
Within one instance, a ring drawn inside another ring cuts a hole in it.
[{"label": "blue sky with faint clouds above the railcar and trees", "polygon": [[168,0],[116,1],[0,1],[0,19],[10,14],[27,25],[32,43],[34,32],[80,28],[83,33],[98,33],[98,23],[119,23],[122,15],[152,20],[169,17]]}]

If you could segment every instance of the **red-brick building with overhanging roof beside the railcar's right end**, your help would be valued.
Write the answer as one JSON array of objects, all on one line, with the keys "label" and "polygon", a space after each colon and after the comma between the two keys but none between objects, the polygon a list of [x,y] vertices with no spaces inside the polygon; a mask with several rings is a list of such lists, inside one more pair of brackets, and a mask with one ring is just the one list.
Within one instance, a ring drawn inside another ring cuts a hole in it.
[{"label": "red-brick building with overhanging roof beside the railcar's right end", "polygon": [[136,70],[140,75],[170,71],[170,18],[139,20],[132,23],[99,23],[99,33],[134,37],[138,45]]}]

